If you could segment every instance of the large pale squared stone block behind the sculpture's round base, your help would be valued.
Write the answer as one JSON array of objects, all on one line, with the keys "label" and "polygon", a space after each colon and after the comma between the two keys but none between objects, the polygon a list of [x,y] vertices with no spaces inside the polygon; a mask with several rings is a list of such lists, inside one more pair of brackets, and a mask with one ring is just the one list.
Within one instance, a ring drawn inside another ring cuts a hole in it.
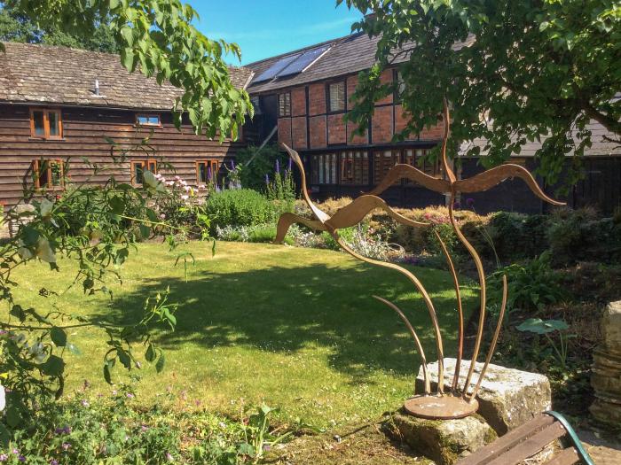
[{"label": "large pale squared stone block behind the sculpture's round base", "polygon": [[[444,389],[452,384],[455,359],[444,359]],[[460,386],[466,382],[470,360],[461,360]],[[471,389],[478,382],[483,363],[476,363]],[[428,373],[433,389],[437,384],[437,362],[428,364]],[[416,391],[423,392],[422,368],[416,379]],[[534,415],[549,410],[552,405],[552,391],[546,376],[513,368],[490,364],[478,391],[478,415],[483,416],[499,436],[506,434]]]}]

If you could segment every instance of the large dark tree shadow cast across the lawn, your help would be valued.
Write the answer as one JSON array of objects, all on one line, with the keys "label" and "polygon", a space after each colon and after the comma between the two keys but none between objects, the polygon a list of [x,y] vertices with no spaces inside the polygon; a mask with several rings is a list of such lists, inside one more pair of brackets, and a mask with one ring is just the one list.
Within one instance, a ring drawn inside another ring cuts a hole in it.
[{"label": "large dark tree shadow cast across the lawn", "polygon": [[[455,345],[457,316],[449,275],[418,268],[431,294],[445,353]],[[370,369],[412,375],[420,358],[405,325],[392,310],[372,298],[396,302],[419,332],[428,360],[435,360],[435,339],[427,308],[413,286],[389,270],[309,265],[265,267],[249,271],[191,272],[190,280],[145,280],[139,291],[115,298],[115,318],[135,321],[145,297],[169,287],[179,304],[177,329],[162,334],[169,350],[179,345],[205,348],[247,345],[271,352],[328,347],[332,368],[364,378]],[[465,307],[473,307],[472,298]],[[362,381],[362,379],[361,379]]]}]

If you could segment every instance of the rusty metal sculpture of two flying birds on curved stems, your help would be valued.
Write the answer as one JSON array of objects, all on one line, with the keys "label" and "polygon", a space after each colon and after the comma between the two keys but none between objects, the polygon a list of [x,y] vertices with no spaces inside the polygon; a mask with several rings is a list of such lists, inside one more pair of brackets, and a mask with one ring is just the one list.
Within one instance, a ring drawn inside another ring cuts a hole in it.
[{"label": "rusty metal sculpture of two flying birds on curved stems", "polygon": [[[311,211],[315,216],[315,220],[304,218],[294,213],[284,213],[279,218],[278,229],[275,239],[276,243],[282,243],[285,236],[287,235],[289,227],[294,223],[301,223],[311,229],[327,231],[331,236],[334,237],[334,240],[342,247],[342,249],[345,252],[348,252],[354,258],[380,267],[394,269],[402,275],[405,275],[405,277],[407,277],[413,283],[416,289],[421,293],[425,305],[427,306],[428,314],[433,324],[433,329],[436,337],[436,352],[438,357],[438,383],[435,393],[431,392],[431,383],[428,376],[427,359],[421,345],[421,340],[416,334],[416,331],[413,329],[412,324],[409,322],[401,309],[399,309],[394,303],[389,302],[384,298],[380,298],[377,296],[373,297],[377,298],[383,304],[389,306],[389,308],[394,310],[405,322],[407,329],[410,331],[410,334],[413,337],[416,349],[421,356],[421,367],[424,379],[424,393],[421,395],[415,395],[412,398],[407,399],[404,406],[405,410],[411,415],[432,419],[463,418],[476,412],[478,408],[476,394],[481,387],[483,377],[485,376],[485,372],[490,364],[491,356],[496,348],[501,323],[507,306],[507,276],[503,276],[503,292],[499,312],[499,321],[491,338],[491,345],[485,357],[483,369],[479,373],[479,377],[474,388],[471,389],[473,384],[472,377],[474,375],[476,367],[476,360],[478,359],[479,351],[481,349],[481,343],[483,340],[483,328],[485,323],[485,303],[487,296],[485,274],[483,272],[483,263],[481,261],[481,258],[479,257],[472,244],[468,242],[466,236],[462,234],[459,225],[455,220],[453,204],[455,202],[455,199],[457,198],[457,195],[460,193],[482,192],[485,190],[489,190],[491,189],[491,187],[499,184],[500,182],[504,182],[507,178],[519,177],[523,179],[524,182],[526,182],[526,184],[531,188],[532,192],[538,196],[538,198],[541,198],[553,205],[563,205],[562,202],[558,202],[553,198],[547,197],[546,194],[539,188],[537,182],[534,180],[532,175],[524,167],[521,167],[519,165],[502,165],[500,167],[491,168],[490,170],[484,171],[481,174],[476,174],[471,178],[458,180],[446,158],[446,147],[450,130],[449,110],[446,102],[444,102],[443,116],[444,138],[442,143],[441,156],[442,168],[444,170],[444,179],[429,176],[428,174],[423,173],[420,169],[412,167],[410,165],[397,164],[395,165],[395,167],[392,167],[389,170],[389,173],[386,174],[386,176],[377,187],[375,187],[366,195],[362,195],[356,198],[349,205],[345,205],[332,216],[323,212],[321,209],[318,208],[317,205],[312,202],[307,191],[306,174],[304,173],[302,160],[300,159],[296,151],[290,149],[289,147],[287,147],[287,145],[284,145],[285,149],[289,153],[289,156],[294,160],[295,165],[297,165],[297,167],[299,167],[300,169],[302,176],[302,195],[306,203],[310,206]],[[430,223],[412,221],[408,218],[405,218],[405,216],[395,212],[392,208],[389,207],[389,205],[386,204],[386,202],[384,202],[381,198],[377,197],[381,194],[381,192],[388,189],[393,183],[402,179],[408,179],[413,182],[418,182],[429,190],[434,190],[436,192],[448,195],[449,219],[451,221],[452,228],[455,231],[458,239],[460,240],[460,243],[464,245],[464,247],[468,250],[470,257],[472,258],[472,260],[474,260],[477,275],[479,278],[481,291],[478,330],[476,333],[476,341],[473,347],[473,354],[468,369],[468,375],[466,376],[464,384],[460,386],[460,366],[463,358],[464,345],[464,315],[460,295],[460,282],[452,258],[446,248],[446,245],[444,244],[442,238],[438,235],[438,233],[434,231],[437,241],[439,242],[439,244],[441,244],[445,259],[447,261],[448,269],[452,275],[455,297],[457,299],[457,313],[459,319],[457,360],[455,364],[455,370],[452,376],[451,389],[449,393],[444,392],[444,345],[442,342],[442,333],[437,320],[436,308],[434,307],[434,304],[429,297],[428,292],[425,290],[425,287],[422,285],[421,281],[415,275],[413,275],[412,272],[405,269],[404,267],[398,266],[395,263],[373,260],[358,254],[358,252],[355,252],[350,247],[350,245],[346,244],[338,234],[339,229],[348,228],[350,226],[358,224],[366,217],[368,213],[371,213],[377,208],[380,208],[385,213],[388,213],[392,219],[398,221],[401,224],[412,226],[413,228],[430,228],[432,226]]]}]

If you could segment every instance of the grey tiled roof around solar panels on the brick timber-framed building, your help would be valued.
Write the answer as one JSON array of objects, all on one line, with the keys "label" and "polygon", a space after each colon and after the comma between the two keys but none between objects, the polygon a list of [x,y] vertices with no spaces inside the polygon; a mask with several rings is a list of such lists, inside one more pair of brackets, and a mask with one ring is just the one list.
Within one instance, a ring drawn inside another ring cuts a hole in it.
[{"label": "grey tiled roof around solar panels on the brick timber-framed building", "polygon": [[[331,44],[332,48],[328,50],[321,58],[319,58],[312,66],[303,73],[278,78],[272,81],[250,82],[248,92],[259,93],[275,89],[283,89],[298,84],[306,84],[312,81],[321,81],[344,74],[358,73],[373,66],[375,63],[375,52],[377,51],[377,43],[379,37],[369,37],[364,33],[346,35],[325,43],[317,43],[301,50],[292,50],[277,57],[255,61],[245,65],[255,72],[255,78],[268,69],[271,65],[279,61],[280,58],[286,58],[303,50],[311,50],[325,44]],[[463,47],[474,41],[474,37],[468,39],[466,43],[455,44],[455,48]],[[405,44],[403,49],[408,50],[413,45]],[[401,53],[395,60],[400,63],[407,59],[407,53]]]}]

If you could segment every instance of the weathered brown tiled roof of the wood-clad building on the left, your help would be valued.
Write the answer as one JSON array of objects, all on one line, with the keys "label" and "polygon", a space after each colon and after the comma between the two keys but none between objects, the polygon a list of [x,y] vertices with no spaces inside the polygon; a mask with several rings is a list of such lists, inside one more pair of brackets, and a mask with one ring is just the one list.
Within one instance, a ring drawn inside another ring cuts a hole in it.
[{"label": "weathered brown tiled roof of the wood-clad building on the left", "polygon": [[[29,43],[4,43],[0,52],[0,102],[169,110],[181,89],[130,74],[117,55]],[[238,89],[252,71],[230,68]],[[95,95],[99,81],[99,97]]]}]

